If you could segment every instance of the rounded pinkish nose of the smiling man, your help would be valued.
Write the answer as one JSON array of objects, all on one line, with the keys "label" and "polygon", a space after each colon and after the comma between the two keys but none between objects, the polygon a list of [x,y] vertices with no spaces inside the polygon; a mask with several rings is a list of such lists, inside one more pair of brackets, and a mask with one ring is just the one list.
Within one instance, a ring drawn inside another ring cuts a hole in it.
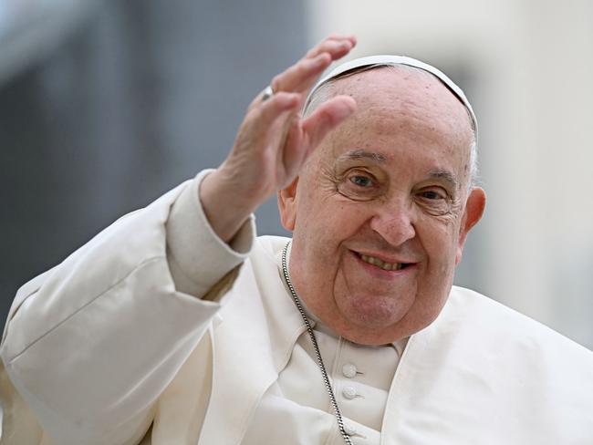
[{"label": "rounded pinkish nose of the smiling man", "polygon": [[393,246],[416,236],[411,203],[399,201],[381,203],[370,219],[370,228]]}]

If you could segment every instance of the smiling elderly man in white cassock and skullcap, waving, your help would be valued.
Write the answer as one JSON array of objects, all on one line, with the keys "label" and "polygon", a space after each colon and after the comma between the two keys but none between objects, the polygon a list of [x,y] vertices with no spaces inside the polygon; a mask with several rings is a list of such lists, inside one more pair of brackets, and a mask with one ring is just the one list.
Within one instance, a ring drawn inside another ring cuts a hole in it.
[{"label": "smiling elderly man in white cassock and skullcap, waving", "polygon": [[[234,148],[23,286],[3,443],[593,443],[593,357],[452,287],[484,211],[463,92],[331,36]],[[291,243],[255,239],[278,191]]]}]

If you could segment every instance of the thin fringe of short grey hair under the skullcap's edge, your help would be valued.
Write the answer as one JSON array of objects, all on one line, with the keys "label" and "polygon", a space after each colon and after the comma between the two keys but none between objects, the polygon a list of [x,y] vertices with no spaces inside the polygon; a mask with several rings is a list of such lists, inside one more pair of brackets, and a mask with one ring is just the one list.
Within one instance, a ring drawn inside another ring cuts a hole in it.
[{"label": "thin fringe of short grey hair under the skullcap's edge", "polygon": [[[307,101],[303,107],[303,112],[302,112],[303,116],[307,117],[315,109],[317,109],[317,107],[319,105],[328,101],[330,98],[333,98],[336,95],[335,89],[333,87],[334,87],[335,82],[338,79],[347,78],[347,77],[359,74],[360,72],[369,71],[369,69],[375,69],[375,68],[379,68],[379,67],[386,67],[386,68],[390,68],[390,69],[406,69],[406,70],[414,71],[415,73],[419,73],[424,76],[430,76],[431,78],[437,78],[439,80],[442,80],[442,79],[438,78],[437,76],[435,76],[434,74],[432,74],[431,72],[429,72],[425,69],[422,69],[421,67],[412,67],[410,65],[403,65],[403,64],[393,65],[393,64],[380,64],[379,63],[379,64],[375,64],[375,65],[355,67],[353,69],[350,69],[348,71],[340,73],[336,77],[328,78],[327,80],[323,81],[320,85],[318,85],[317,88],[314,88],[311,91],[311,93],[310,93],[309,97],[307,98]],[[445,86],[448,87],[448,85],[446,85],[446,84],[445,84]],[[454,91],[452,91],[452,92],[453,92],[453,94],[455,94]],[[457,94],[455,94],[455,96],[457,98],[459,98],[457,96]],[[478,183],[478,148],[477,148],[476,127],[475,127],[475,122],[473,119],[472,112],[470,112],[470,110],[467,108],[467,106],[463,103],[463,100],[460,99],[460,102],[462,102],[463,108],[467,112],[467,117],[470,122],[470,129],[472,131],[472,141],[470,143],[470,160],[469,160],[470,181],[468,183],[468,188],[471,189]]]}]

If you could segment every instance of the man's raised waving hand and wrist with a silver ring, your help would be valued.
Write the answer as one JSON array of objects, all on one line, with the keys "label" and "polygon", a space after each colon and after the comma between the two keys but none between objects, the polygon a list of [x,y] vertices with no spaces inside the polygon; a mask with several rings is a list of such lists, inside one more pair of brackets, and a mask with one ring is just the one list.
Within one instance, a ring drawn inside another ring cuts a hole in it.
[{"label": "man's raised waving hand and wrist with a silver ring", "polygon": [[252,101],[233,150],[200,188],[204,212],[225,242],[251,212],[296,178],[321,140],[356,109],[352,98],[337,96],[307,118],[299,115],[318,76],[355,45],[353,36],[329,36],[272,80],[271,98],[258,95]]}]

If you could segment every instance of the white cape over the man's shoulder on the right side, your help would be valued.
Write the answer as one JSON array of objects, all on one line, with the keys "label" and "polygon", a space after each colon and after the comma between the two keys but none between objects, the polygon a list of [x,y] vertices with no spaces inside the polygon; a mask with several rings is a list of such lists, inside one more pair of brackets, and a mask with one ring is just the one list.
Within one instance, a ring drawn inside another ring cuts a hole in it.
[{"label": "white cape over the man's shoulder on the right side", "polygon": [[461,287],[411,336],[393,388],[399,439],[426,422],[430,443],[593,443],[593,353]]}]

